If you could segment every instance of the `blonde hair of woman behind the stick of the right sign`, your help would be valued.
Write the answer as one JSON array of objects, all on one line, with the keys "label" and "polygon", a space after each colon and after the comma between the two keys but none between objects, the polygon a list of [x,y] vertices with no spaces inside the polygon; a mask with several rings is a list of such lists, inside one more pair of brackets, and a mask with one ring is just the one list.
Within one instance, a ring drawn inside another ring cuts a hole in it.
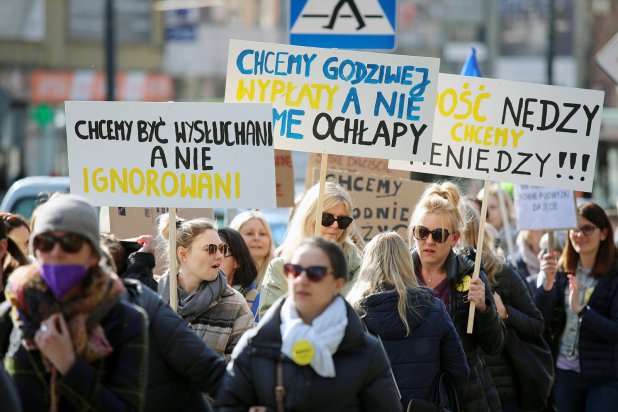
[{"label": "blonde hair of woman behind the stick of the right sign", "polygon": [[[463,230],[460,238],[461,245],[466,247],[472,247],[478,249],[476,242],[479,235],[481,217],[479,212],[468,202],[462,202],[460,205],[461,213],[466,217],[467,224]],[[489,282],[495,285],[496,273],[500,273],[505,263],[503,256],[495,252],[494,244],[495,237],[491,230],[488,230],[489,226],[485,227],[485,234],[483,235],[483,247],[481,248],[481,260],[483,261],[483,270],[489,278]]]}]

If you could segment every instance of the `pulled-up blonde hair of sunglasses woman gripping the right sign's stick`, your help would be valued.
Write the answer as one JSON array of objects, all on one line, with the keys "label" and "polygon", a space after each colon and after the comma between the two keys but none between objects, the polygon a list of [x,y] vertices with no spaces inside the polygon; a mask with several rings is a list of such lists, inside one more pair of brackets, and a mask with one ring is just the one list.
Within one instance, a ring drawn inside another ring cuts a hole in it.
[{"label": "pulled-up blonde hair of sunglasses woman gripping the right sign's stick", "polygon": [[414,243],[413,228],[427,213],[440,213],[448,221],[447,229],[453,232],[461,232],[465,227],[464,217],[459,211],[461,192],[457,185],[446,181],[443,183],[433,183],[425,189],[423,195],[414,207],[414,212],[410,218],[408,227],[408,240]]}]

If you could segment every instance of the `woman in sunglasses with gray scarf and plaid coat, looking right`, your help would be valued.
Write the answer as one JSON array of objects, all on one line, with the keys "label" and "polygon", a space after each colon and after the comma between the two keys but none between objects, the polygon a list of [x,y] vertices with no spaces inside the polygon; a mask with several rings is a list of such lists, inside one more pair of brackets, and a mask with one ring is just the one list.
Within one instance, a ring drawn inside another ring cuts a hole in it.
[{"label": "woman in sunglasses with gray scarf and plaid coat, looking right", "polygon": [[[169,215],[159,217],[159,235],[169,239]],[[176,263],[178,267],[178,314],[216,352],[230,359],[234,346],[247,329],[253,315],[240,292],[227,284],[221,271],[228,245],[221,241],[214,222],[206,218],[176,222]],[[169,276],[159,280],[159,294],[169,303]]]}]

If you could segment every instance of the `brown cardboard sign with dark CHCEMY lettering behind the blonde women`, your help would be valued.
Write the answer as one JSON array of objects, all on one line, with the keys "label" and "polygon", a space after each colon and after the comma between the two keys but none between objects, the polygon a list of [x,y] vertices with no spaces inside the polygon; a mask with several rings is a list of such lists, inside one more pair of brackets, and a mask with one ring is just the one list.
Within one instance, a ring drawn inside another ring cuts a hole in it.
[{"label": "brown cardboard sign with dark CHCEMY lettering behind the blonde women", "polygon": [[[313,182],[319,179],[320,169],[314,168]],[[354,224],[365,242],[389,230],[408,240],[410,217],[425,190],[425,183],[342,170],[329,170],[326,180],[338,183],[350,192],[354,202]]]}]

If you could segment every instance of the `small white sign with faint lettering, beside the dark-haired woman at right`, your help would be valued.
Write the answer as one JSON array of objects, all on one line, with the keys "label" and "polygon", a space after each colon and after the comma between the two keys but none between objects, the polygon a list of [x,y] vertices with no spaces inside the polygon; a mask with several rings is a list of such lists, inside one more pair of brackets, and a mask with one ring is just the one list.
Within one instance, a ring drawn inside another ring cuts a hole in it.
[{"label": "small white sign with faint lettering, beside the dark-haired woman at right", "polygon": [[577,226],[573,192],[564,189],[515,185],[517,229],[559,230]]}]

